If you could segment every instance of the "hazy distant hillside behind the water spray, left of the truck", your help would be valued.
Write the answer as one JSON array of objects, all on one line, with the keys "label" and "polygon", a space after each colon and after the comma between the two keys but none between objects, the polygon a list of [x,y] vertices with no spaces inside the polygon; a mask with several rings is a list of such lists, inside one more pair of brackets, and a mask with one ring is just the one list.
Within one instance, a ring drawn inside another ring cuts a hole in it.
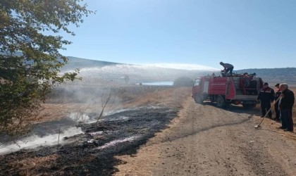
[{"label": "hazy distant hillside behind the water spray, left of the truck", "polygon": [[132,65],[125,63],[111,63],[106,61],[95,61],[85,58],[68,57],[68,64],[61,71],[75,70],[80,68],[80,77],[83,84],[99,82],[121,82],[135,84],[153,81],[174,81],[178,77],[189,77],[194,80],[202,75],[212,74],[208,70],[181,70],[174,68],[159,68],[148,65]]}]

